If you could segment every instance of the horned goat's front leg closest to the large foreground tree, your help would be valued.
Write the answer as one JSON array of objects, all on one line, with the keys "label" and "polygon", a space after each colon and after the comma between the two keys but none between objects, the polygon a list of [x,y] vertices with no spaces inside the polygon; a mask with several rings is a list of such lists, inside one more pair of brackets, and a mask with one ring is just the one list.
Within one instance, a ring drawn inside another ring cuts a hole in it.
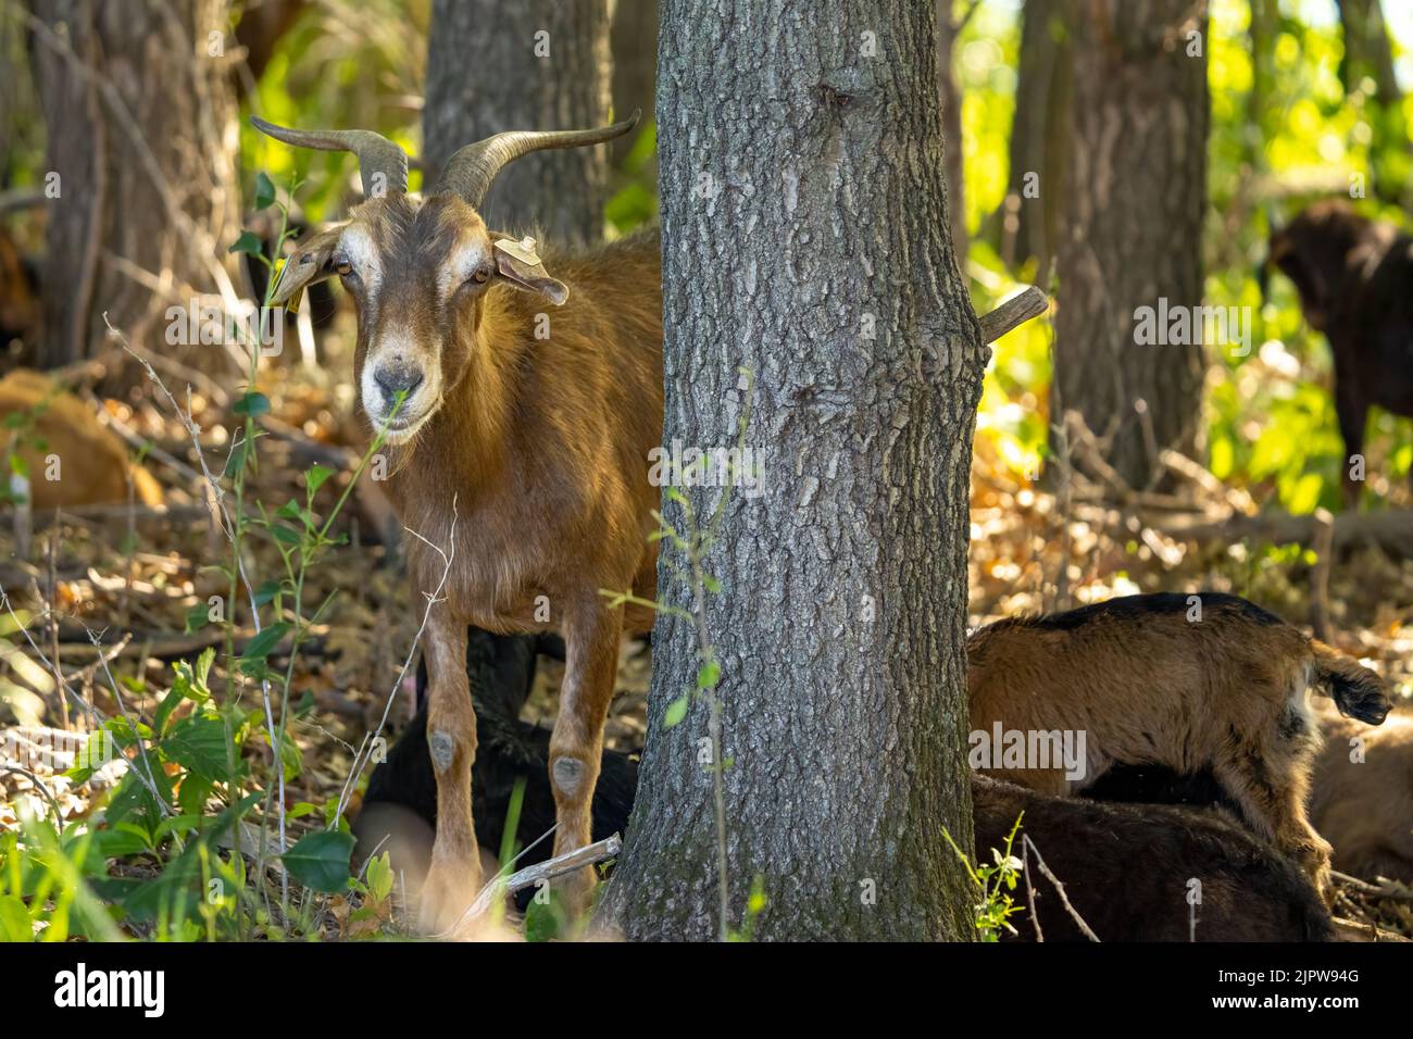
[{"label": "horned goat's front leg closest to the large foreground tree", "polygon": [[[603,724],[617,677],[623,611],[602,602],[579,605],[565,618],[567,647],[560,717],[550,738],[550,785],[554,789],[557,828],[554,854],[567,855],[592,843],[593,787],[603,755]],[[571,915],[588,908],[593,867],[577,869],[555,882]]]}]

